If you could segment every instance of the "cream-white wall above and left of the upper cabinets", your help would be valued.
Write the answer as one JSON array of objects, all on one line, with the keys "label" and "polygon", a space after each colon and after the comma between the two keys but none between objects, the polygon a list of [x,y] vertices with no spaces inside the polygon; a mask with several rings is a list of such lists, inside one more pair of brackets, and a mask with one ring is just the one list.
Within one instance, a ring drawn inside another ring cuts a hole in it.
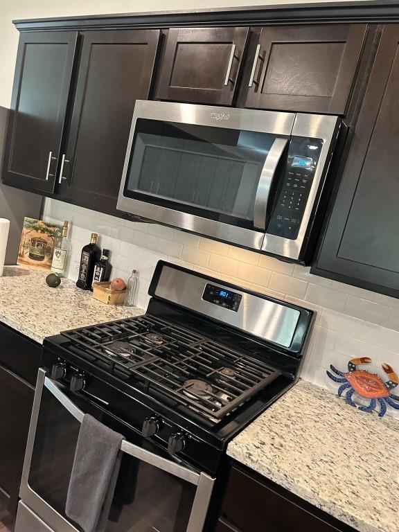
[{"label": "cream-white wall above and left of the upper cabinets", "polygon": [[[307,0],[308,3],[317,0]],[[321,0],[321,3],[330,0]],[[342,0],[355,1],[355,0]],[[0,0],[0,105],[10,107],[19,32],[15,19],[303,3],[302,0]]]}]

